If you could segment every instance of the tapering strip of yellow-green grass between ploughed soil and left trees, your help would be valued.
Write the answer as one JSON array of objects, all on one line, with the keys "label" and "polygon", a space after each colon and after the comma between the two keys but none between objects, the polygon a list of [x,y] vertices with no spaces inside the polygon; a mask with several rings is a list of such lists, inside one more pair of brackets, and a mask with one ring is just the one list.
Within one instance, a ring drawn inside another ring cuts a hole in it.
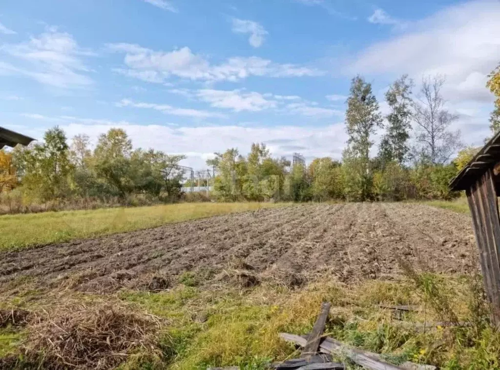
[{"label": "tapering strip of yellow-green grass between ploughed soil and left trees", "polygon": [[0,216],[0,250],[157,227],[279,203],[180,203],[152,207]]}]

